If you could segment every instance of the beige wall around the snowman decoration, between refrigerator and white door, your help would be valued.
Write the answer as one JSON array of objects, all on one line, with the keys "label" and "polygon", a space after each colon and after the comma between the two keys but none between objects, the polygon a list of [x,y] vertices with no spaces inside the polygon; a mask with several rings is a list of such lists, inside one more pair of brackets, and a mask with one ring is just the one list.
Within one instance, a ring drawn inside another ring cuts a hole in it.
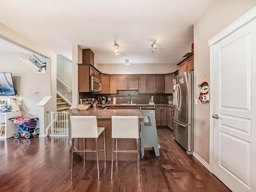
[{"label": "beige wall around the snowman decoration, between refrigerator and white door", "polygon": [[[210,80],[210,54],[207,40],[225,29],[254,6],[256,6],[255,0],[215,0],[194,24],[196,98],[200,93],[197,85]],[[198,105],[195,105],[194,152],[208,164],[209,111],[210,106],[203,106],[200,101]]]}]

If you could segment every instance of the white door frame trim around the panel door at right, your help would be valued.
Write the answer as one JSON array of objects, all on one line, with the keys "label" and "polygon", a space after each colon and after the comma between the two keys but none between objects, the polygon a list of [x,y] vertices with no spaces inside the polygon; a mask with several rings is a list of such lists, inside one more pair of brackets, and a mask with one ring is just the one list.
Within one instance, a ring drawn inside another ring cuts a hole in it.
[{"label": "white door frame trim around the panel door at right", "polygon": [[210,48],[210,146],[209,146],[209,171],[213,173],[214,163],[214,120],[211,117],[214,114],[214,45],[219,41],[229,36],[233,32],[239,30],[252,20],[256,19],[256,6],[249,10],[247,13],[242,15],[227,28],[222,30],[220,33],[209,39],[208,47]]}]

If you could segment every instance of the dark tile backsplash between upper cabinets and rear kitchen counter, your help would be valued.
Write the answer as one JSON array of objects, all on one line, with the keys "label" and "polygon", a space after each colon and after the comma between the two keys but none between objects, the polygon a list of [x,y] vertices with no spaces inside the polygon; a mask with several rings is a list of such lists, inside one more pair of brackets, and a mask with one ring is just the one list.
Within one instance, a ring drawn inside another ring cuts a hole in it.
[{"label": "dark tile backsplash between upper cabinets and rear kitchen counter", "polygon": [[133,99],[133,103],[139,103],[139,104],[147,104],[151,99],[151,96],[154,96],[154,102],[155,104],[158,104],[158,103],[167,103],[168,102],[167,96],[172,94],[139,94],[138,90],[117,91],[117,94],[79,93],[79,99],[98,98],[98,97],[104,96],[106,98],[111,98],[110,103],[112,103],[113,97],[117,98],[117,103],[127,103],[128,95],[130,95],[130,98]]}]

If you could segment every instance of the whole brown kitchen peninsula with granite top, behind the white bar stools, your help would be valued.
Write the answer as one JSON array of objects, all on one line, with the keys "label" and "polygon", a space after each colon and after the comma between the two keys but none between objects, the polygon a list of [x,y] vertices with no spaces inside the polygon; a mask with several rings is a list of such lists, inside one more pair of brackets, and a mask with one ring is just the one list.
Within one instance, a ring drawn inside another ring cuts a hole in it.
[{"label": "whole brown kitchen peninsula with granite top, behind the white bar stools", "polygon": [[[87,111],[79,111],[78,109],[69,110],[70,115],[80,116],[96,116],[98,127],[105,127],[106,137],[106,160],[111,161],[112,153],[112,138],[111,138],[111,117],[112,116],[138,116],[139,117],[139,131],[140,121],[144,118],[140,110],[100,110],[89,109]],[[71,128],[72,129],[72,128]],[[86,122],[84,122],[84,131],[86,131]],[[78,142],[79,140],[79,142]],[[98,139],[99,149],[103,149],[103,135]],[[116,144],[115,144],[116,146]],[[83,150],[83,139],[75,139],[75,147],[78,150]],[[86,139],[86,149],[95,150],[95,139]],[[135,139],[118,139],[119,150],[136,150]],[[83,155],[80,153],[80,155]],[[115,157],[115,155],[114,155]],[[96,152],[86,153],[86,160],[96,160]],[[104,160],[104,152],[99,152],[99,160]],[[118,153],[119,161],[137,161],[136,153]]]}]

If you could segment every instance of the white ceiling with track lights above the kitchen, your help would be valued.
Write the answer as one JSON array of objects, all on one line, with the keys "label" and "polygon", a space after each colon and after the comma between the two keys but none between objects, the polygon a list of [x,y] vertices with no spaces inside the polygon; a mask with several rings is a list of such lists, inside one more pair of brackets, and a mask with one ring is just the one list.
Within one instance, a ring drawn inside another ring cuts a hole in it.
[{"label": "white ceiling with track lights above the kitchen", "polygon": [[[72,58],[91,48],[97,63],[177,63],[190,51],[193,24],[212,0],[0,0],[0,22]],[[157,38],[157,50],[150,52]],[[119,55],[114,54],[114,41]]]}]

